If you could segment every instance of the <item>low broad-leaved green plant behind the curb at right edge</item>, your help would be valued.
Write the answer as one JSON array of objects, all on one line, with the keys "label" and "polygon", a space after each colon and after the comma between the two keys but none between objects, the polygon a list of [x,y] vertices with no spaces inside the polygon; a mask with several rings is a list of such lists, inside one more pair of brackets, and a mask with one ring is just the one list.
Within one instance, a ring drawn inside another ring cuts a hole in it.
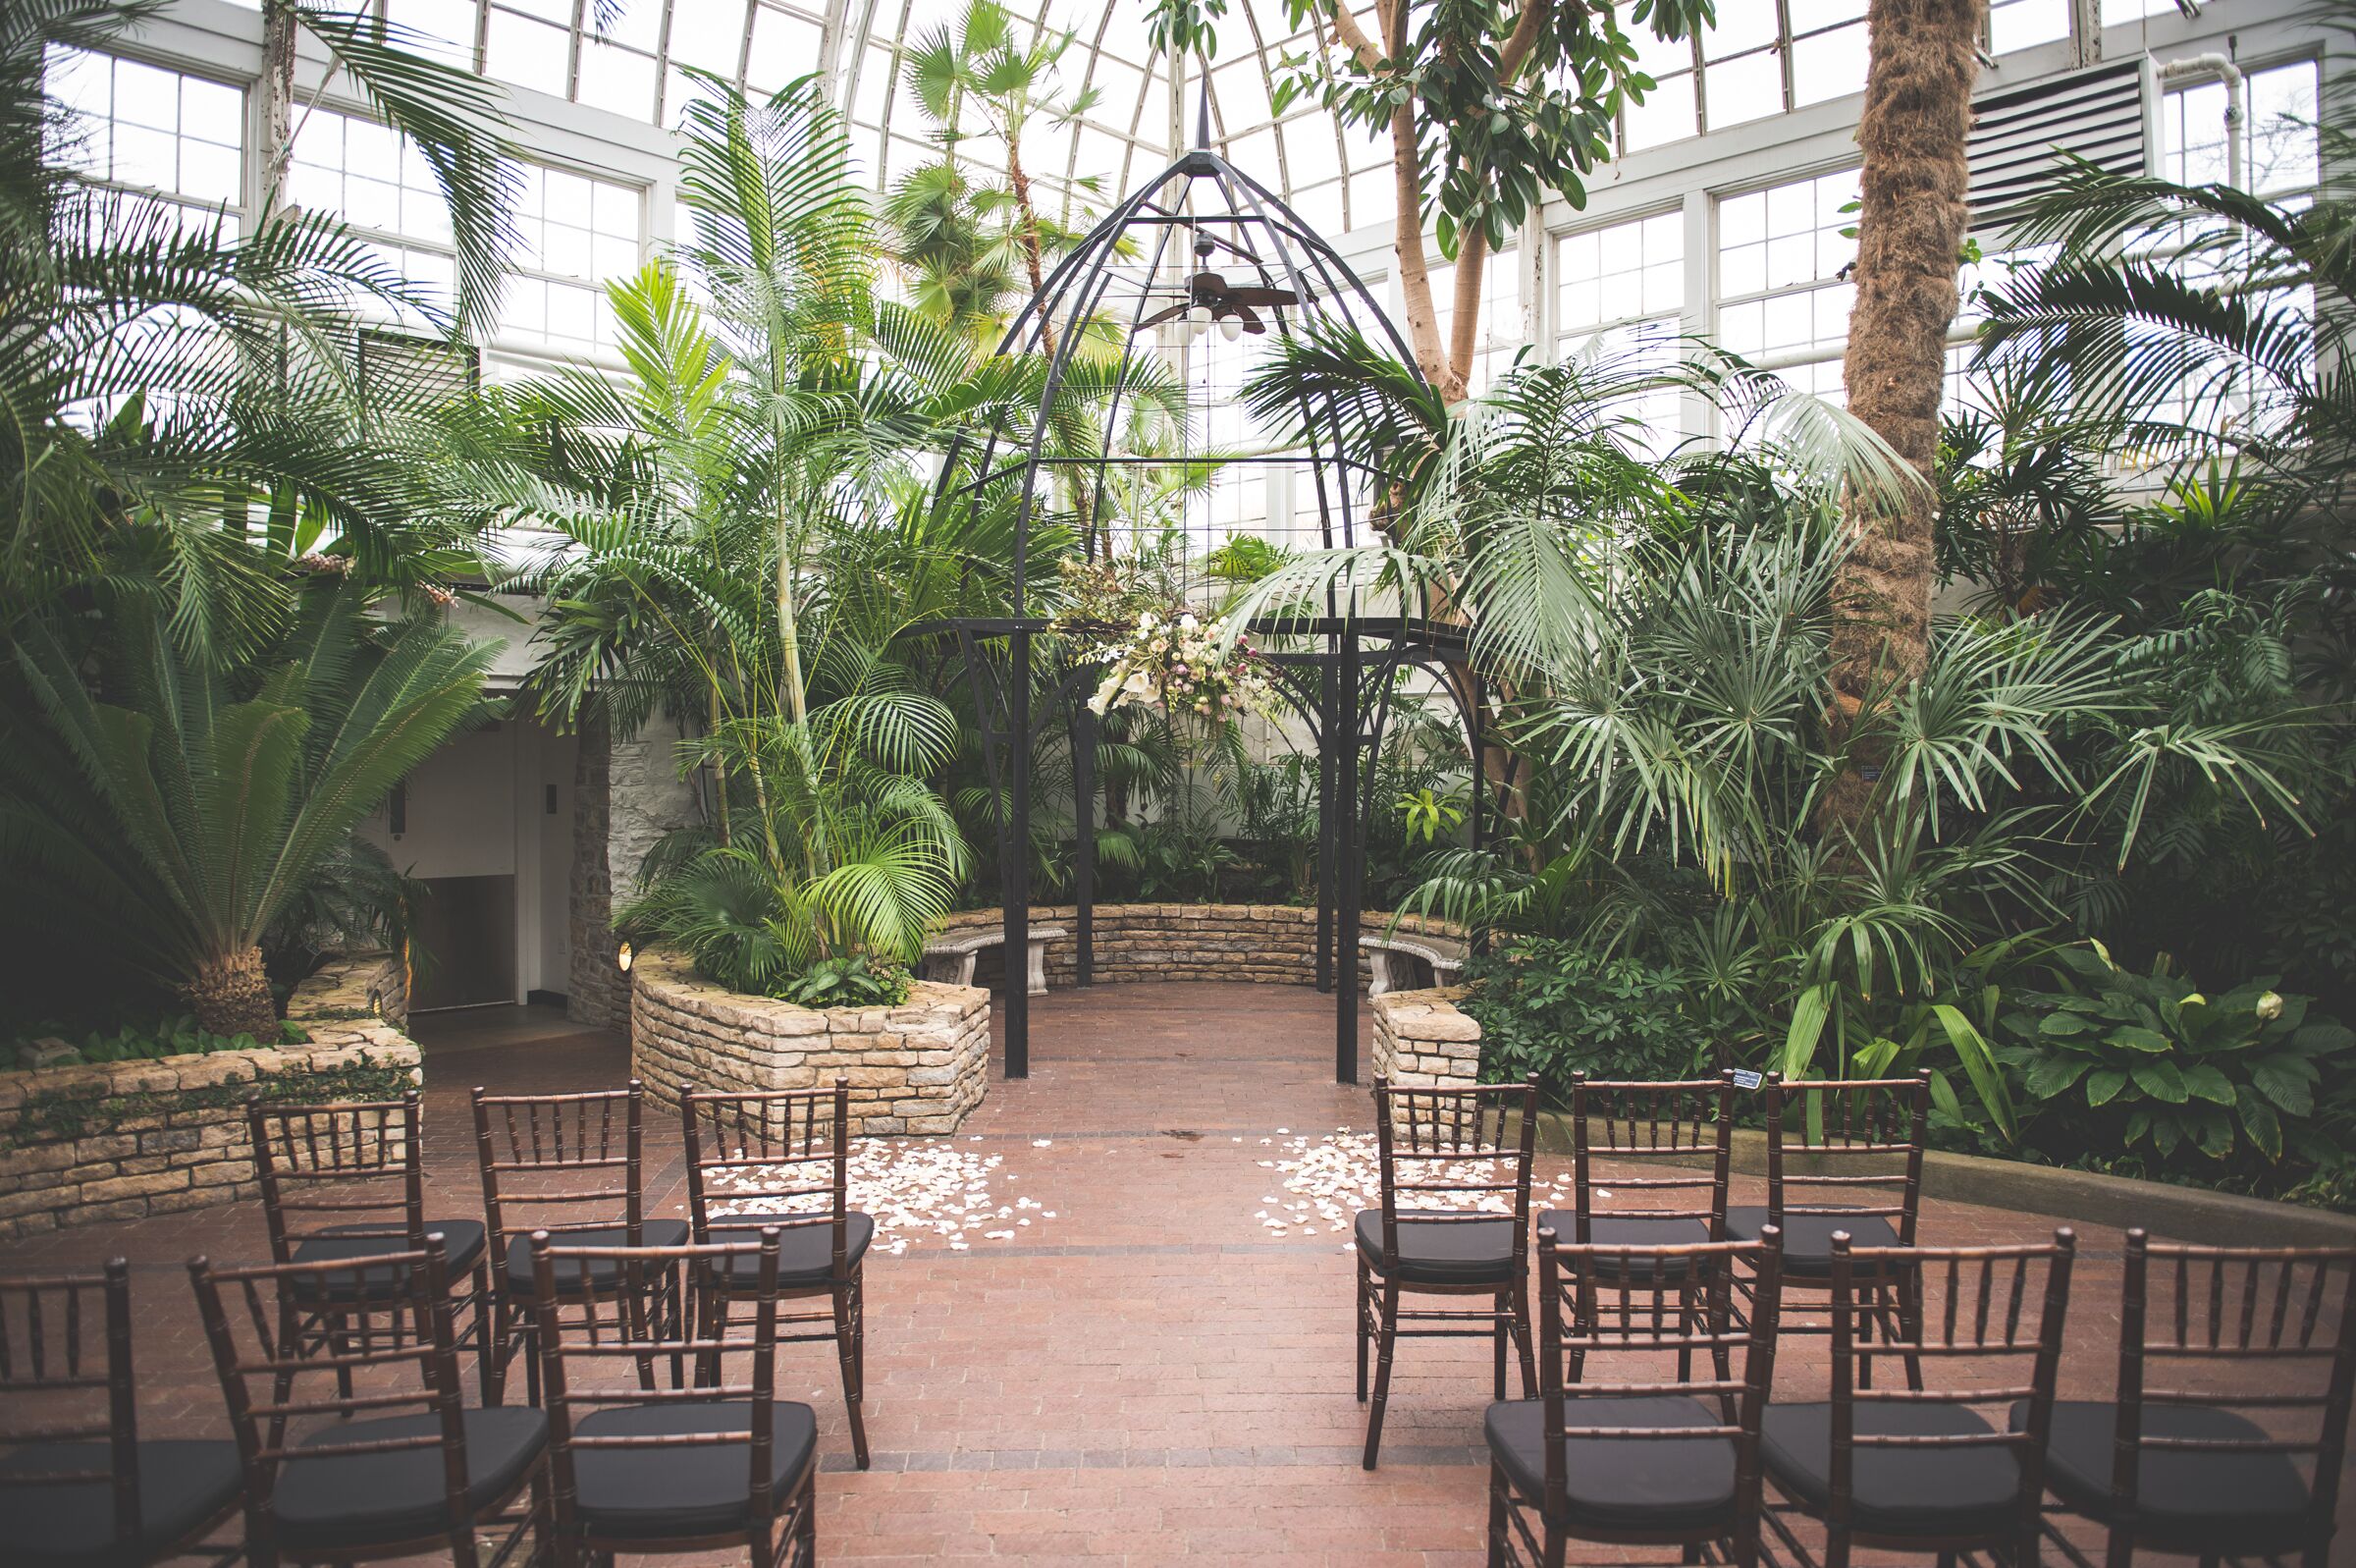
[{"label": "low broad-leaved green plant behind the curb at right edge", "polygon": [[2047,962],[2057,988],[2014,988],[1998,1019],[2029,1141],[2177,1172],[2347,1160],[2318,1099],[2347,1073],[2356,1033],[2309,997],[2274,990],[2274,976],[2210,997],[2165,960],[2137,974],[2099,943]]}]

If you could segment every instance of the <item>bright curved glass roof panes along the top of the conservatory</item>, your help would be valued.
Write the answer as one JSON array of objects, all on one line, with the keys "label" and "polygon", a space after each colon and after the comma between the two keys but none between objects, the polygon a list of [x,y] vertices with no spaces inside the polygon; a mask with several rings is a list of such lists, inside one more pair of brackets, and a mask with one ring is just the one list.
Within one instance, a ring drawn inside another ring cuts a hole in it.
[{"label": "bright curved glass roof panes along the top of the conservatory", "polygon": [[[964,12],[964,0],[379,2],[485,75],[655,125],[674,125],[697,92],[681,66],[754,92],[829,71],[879,189],[938,156],[938,127],[900,61],[905,47]],[[2106,17],[2125,19],[2149,2],[2106,0]],[[1107,205],[1192,139],[1197,85],[1171,92],[1166,61],[1145,40],[1147,0],[1006,0],[1006,9],[1030,35],[1070,31],[1058,92],[1096,97],[1081,123],[1039,125],[1023,149],[1025,172],[1072,203],[1067,219]],[[2071,9],[2071,0],[1996,0],[1988,42],[2003,54],[2069,38]],[[1336,127],[1315,104],[1296,104],[1284,120],[1270,111],[1279,61],[1315,42],[1284,12],[1282,0],[1230,0],[1211,61],[1213,141],[1324,233],[1388,224],[1395,200],[1383,139]],[[1659,90],[1630,108],[1621,146],[1642,151],[1857,92],[1864,12],[1866,0],[1746,0],[1720,7],[1722,21],[1701,40],[1644,40],[1642,66]],[[1004,163],[1004,149],[982,134],[959,141],[959,156]],[[1081,179],[1098,182],[1093,196],[1074,198]]]}]

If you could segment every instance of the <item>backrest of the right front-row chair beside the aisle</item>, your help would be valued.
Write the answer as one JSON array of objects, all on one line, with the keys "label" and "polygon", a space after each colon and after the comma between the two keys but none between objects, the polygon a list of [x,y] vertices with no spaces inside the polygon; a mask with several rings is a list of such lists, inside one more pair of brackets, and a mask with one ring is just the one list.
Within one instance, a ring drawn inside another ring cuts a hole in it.
[{"label": "backrest of the right front-row chair beside the aisle", "polygon": [[1513,1257],[1529,1257],[1529,1158],[1538,1144],[1538,1080],[1421,1089],[1374,1080],[1383,1167],[1383,1259],[1397,1266],[1399,1214],[1416,1224],[1513,1217]]}]

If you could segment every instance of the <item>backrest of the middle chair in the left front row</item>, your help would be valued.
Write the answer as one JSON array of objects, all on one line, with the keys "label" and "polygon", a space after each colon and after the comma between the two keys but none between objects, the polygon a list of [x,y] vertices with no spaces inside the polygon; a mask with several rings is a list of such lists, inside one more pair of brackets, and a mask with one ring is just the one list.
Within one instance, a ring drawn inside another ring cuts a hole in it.
[{"label": "backrest of the middle chair in the left front row", "polygon": [[[615,1125],[620,1113],[620,1125]],[[615,1228],[646,1243],[646,1087],[587,1094],[474,1092],[474,1144],[483,1170],[490,1257],[518,1231]],[[509,1210],[521,1210],[511,1214]]]}]

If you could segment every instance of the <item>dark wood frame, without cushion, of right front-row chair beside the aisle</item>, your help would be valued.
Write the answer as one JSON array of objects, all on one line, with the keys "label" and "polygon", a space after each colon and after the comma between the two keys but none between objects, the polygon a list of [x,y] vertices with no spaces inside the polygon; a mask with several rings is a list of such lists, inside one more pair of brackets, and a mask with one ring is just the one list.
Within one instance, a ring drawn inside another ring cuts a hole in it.
[{"label": "dark wood frame, without cushion, of right front-row chair beside the aisle", "polygon": [[[1536,1398],[1538,1368],[1529,1337],[1529,1165],[1538,1139],[1538,1080],[1480,1085],[1472,1089],[1423,1089],[1374,1080],[1374,1137],[1383,1172],[1383,1261],[1357,1254],[1357,1398],[1366,1408],[1366,1457],[1374,1469],[1383,1448],[1383,1412],[1390,1405],[1390,1361],[1399,1339],[1475,1339],[1496,1346],[1496,1398],[1505,1398],[1505,1339],[1522,1361],[1522,1396]],[[1515,1141],[1508,1144],[1505,1139]],[[1404,1139],[1404,1141],[1402,1141]],[[1513,1165],[1501,1181],[1458,1181],[1444,1170],[1468,1160],[1505,1160]],[[1409,1167],[1402,1172],[1402,1167]],[[1423,1177],[1416,1172],[1435,1170]],[[1480,1283],[1430,1283],[1399,1278],[1399,1198],[1409,1198],[1407,1217],[1416,1224],[1503,1221],[1489,1210],[1418,1210],[1416,1195],[1442,1203],[1456,1198],[1513,1198],[1513,1278]],[[1402,1294],[1489,1297],[1487,1309],[1425,1306],[1399,1309]],[[1366,1346],[1376,1346],[1374,1396],[1366,1391]]]}]

